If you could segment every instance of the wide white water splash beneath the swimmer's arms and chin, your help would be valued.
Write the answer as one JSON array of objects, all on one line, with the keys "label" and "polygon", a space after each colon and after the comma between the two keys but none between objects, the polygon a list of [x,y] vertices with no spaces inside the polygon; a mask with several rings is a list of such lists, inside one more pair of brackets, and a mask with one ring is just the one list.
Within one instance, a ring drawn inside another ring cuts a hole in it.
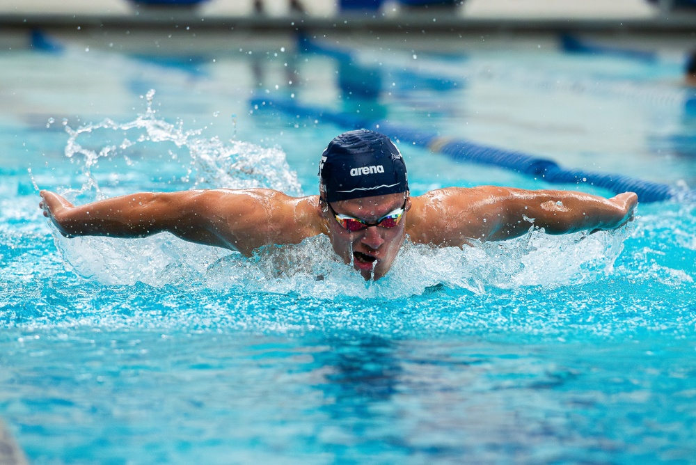
[{"label": "wide white water splash beneath the swimmer's arms and chin", "polygon": [[296,245],[267,246],[251,258],[166,234],[128,240],[57,239],[75,271],[111,285],[142,282],[326,299],[397,299],[424,294],[438,285],[482,294],[492,289],[590,283],[612,271],[627,235],[626,228],[564,237],[530,230],[518,239],[464,249],[407,240],[390,272],[379,281],[365,281],[344,265],[323,235]]}]

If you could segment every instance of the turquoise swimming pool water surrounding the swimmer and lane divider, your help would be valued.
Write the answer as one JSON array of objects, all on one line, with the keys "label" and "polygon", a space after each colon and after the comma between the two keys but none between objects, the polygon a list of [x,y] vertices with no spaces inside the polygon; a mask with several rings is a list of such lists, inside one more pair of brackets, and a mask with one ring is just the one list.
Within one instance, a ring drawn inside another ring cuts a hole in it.
[{"label": "turquoise swimming pool water surrounding the swimmer and lane divider", "polygon": [[[690,200],[642,204],[615,232],[405,246],[365,283],[321,237],[251,259],[166,235],[63,239],[36,190],[315,194],[345,128],[250,104],[283,97],[686,192],[678,59],[314,38],[347,67],[290,36],[164,54],[49,39],[61,50],[0,54],[0,416],[32,463],[693,462]],[[549,187],[400,148],[413,194]]]}]

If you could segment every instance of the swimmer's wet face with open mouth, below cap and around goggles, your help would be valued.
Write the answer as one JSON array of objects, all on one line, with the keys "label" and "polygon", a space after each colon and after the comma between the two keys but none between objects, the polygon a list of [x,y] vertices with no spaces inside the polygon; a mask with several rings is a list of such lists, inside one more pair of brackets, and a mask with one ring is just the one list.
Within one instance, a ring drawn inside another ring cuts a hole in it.
[{"label": "swimmer's wet face with open mouth, below cap and around goggles", "polygon": [[337,214],[352,216],[365,223],[377,223],[386,214],[403,207],[404,200],[405,210],[408,211],[411,208],[411,200],[406,198],[404,193],[355,198],[333,202],[331,208],[322,210],[322,216],[329,224],[333,250],[346,265],[353,265],[354,269],[360,271],[365,280],[377,280],[391,268],[406,238],[406,212],[393,228],[369,226],[350,232],[336,221],[331,209]]}]

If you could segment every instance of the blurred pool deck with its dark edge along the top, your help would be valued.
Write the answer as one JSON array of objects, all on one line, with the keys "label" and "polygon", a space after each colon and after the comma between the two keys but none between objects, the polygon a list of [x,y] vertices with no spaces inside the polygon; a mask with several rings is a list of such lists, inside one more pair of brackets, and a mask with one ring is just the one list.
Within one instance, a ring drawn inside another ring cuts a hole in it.
[{"label": "blurred pool deck with its dark edge along the top", "polygon": [[196,8],[137,7],[127,0],[3,0],[1,29],[37,27],[167,29],[182,22],[198,30],[361,31],[426,33],[595,31],[679,33],[696,42],[696,10],[666,10],[644,0],[466,0],[454,8],[406,8],[386,2],[379,11],[340,10],[335,1],[209,0]]}]

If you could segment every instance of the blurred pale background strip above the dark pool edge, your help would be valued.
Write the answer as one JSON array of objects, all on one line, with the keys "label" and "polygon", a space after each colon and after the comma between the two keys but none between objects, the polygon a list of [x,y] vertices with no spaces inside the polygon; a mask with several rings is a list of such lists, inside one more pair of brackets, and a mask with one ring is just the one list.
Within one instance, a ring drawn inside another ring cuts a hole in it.
[{"label": "blurred pale background strip above the dark pool edge", "polygon": [[3,0],[3,15],[54,13],[128,15],[143,7],[195,8],[198,15],[329,17],[378,11],[384,15],[448,9],[461,17],[655,18],[696,7],[694,0]]}]

